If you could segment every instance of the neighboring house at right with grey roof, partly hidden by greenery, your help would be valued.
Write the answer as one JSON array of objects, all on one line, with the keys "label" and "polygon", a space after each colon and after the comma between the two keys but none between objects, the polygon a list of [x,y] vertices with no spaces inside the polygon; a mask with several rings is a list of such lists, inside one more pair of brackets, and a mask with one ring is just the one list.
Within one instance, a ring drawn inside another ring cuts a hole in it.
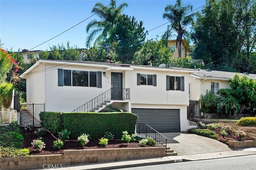
[{"label": "neighboring house at right with grey roof, partly hidden by greenery", "polygon": [[[189,117],[200,117],[199,98],[201,94],[206,94],[206,90],[211,90],[217,96],[218,90],[230,88],[230,78],[234,77],[235,72],[214,71],[211,69],[198,70],[190,74],[189,78]],[[246,74],[248,78],[256,80],[256,74],[238,73],[239,76]]]}]

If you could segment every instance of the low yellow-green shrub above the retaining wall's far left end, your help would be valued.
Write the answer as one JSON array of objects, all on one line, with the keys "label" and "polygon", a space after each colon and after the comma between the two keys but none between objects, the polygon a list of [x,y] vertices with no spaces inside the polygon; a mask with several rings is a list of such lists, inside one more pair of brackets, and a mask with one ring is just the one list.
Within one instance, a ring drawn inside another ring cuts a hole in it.
[{"label": "low yellow-green shrub above the retaining wall's far left end", "polygon": [[14,147],[0,147],[0,157],[29,156],[28,149],[16,149]]}]

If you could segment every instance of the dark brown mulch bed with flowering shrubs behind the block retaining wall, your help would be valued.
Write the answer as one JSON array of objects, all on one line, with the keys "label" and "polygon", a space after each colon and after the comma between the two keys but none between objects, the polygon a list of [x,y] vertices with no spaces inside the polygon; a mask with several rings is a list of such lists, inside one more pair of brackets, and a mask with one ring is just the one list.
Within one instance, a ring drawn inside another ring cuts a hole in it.
[{"label": "dark brown mulch bed with flowering shrubs behind the block retaining wall", "polygon": [[[77,149],[113,149],[113,148],[138,148],[141,147],[139,145],[139,141],[135,141],[132,143],[126,143],[125,141],[121,140],[109,140],[108,145],[101,146],[98,145],[98,140],[90,140],[84,147],[80,145],[79,142],[76,141],[69,141],[64,142],[62,149],[53,149],[52,145],[53,142],[56,141],[54,137],[50,133],[46,131],[45,135],[42,136],[42,141],[46,144],[45,148],[41,151],[37,149],[31,148],[31,142],[34,139],[38,139],[39,137],[34,133],[36,131],[36,127],[34,127],[31,131],[26,131],[24,127],[21,127],[22,135],[24,137],[24,143],[22,148],[28,148],[30,151],[30,155],[46,155],[46,154],[62,154],[63,150],[77,150]],[[145,147],[150,147],[146,145]]]}]

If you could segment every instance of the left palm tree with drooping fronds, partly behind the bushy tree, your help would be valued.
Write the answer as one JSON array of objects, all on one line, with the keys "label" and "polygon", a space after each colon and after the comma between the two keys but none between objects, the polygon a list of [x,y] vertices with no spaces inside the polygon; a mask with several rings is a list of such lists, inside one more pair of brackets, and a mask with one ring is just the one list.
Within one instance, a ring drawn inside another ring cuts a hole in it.
[{"label": "left palm tree with drooping fronds, partly behind the bushy tree", "polygon": [[116,7],[116,0],[110,0],[108,6],[104,6],[104,4],[98,2],[92,8],[92,13],[96,14],[100,18],[100,21],[92,20],[88,23],[86,33],[91,29],[92,31],[86,40],[87,47],[90,47],[90,43],[98,34],[99,36],[96,38],[94,46],[108,37],[109,31],[114,27],[116,17],[121,14],[124,7],[128,7],[128,4],[124,2]]}]

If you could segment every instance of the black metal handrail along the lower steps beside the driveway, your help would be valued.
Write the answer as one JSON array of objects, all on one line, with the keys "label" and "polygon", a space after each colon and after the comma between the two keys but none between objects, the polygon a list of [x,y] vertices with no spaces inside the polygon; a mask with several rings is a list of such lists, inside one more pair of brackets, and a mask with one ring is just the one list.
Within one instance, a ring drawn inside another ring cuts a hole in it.
[{"label": "black metal handrail along the lower steps beside the driveway", "polygon": [[146,138],[153,139],[158,145],[165,147],[165,150],[167,149],[167,138],[149,125],[136,123],[136,133],[146,135]]}]

